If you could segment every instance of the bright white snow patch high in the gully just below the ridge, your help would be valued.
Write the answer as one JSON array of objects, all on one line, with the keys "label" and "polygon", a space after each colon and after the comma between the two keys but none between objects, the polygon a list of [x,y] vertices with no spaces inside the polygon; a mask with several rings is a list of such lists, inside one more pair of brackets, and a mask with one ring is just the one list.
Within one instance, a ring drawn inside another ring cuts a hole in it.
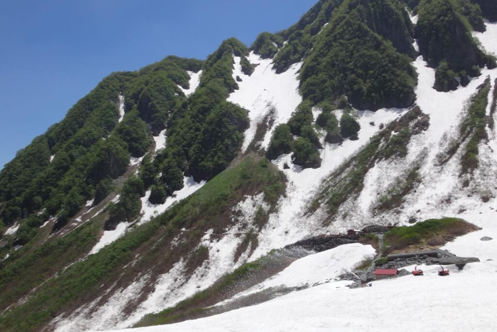
[{"label": "bright white snow patch high in the gully just below the ridge", "polygon": [[245,152],[255,136],[257,124],[270,112],[274,112],[274,123],[266,132],[261,147],[267,147],[274,127],[285,123],[290,118],[295,108],[302,102],[299,94],[298,71],[302,63],[294,64],[286,72],[276,74],[272,69],[271,59],[262,59],[250,52],[248,61],[258,64],[252,75],[242,72],[240,57],[235,58],[233,77],[240,76],[242,82],[237,82],[240,87],[228,98],[229,102],[238,104],[248,110],[250,127],[245,131],[242,151]]}]

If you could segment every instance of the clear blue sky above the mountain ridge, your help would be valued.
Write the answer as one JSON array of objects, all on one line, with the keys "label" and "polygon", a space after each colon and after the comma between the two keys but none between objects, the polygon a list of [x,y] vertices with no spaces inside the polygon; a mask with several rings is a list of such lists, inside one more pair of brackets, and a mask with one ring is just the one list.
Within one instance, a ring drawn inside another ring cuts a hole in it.
[{"label": "clear blue sky above the mountain ridge", "polygon": [[0,169],[105,76],[250,45],[317,0],[0,0]]}]

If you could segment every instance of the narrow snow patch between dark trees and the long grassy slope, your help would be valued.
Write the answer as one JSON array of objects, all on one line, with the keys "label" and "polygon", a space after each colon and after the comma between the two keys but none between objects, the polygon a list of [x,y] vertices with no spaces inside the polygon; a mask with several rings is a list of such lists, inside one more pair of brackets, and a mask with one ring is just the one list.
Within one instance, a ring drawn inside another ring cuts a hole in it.
[{"label": "narrow snow patch between dark trees and the long grassy slope", "polygon": [[142,224],[146,221],[149,221],[152,217],[155,217],[157,215],[162,214],[165,212],[171,205],[173,205],[176,202],[181,201],[183,198],[186,198],[196,192],[198,189],[200,189],[203,185],[205,184],[205,181],[201,181],[200,183],[195,182],[193,180],[193,177],[184,177],[183,179],[183,188],[175,191],[173,193],[174,197],[169,196],[166,199],[166,202],[164,204],[152,204],[149,202],[150,194],[152,193],[151,190],[148,190],[147,193],[145,194],[144,197],[141,198],[142,200],[142,211],[141,215],[142,218],[140,219],[139,224]]}]

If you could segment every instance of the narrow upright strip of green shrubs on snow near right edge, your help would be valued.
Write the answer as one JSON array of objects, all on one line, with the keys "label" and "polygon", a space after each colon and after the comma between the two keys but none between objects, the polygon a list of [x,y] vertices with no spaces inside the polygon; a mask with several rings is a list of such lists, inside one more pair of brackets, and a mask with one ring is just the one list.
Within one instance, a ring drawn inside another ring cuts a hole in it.
[{"label": "narrow upright strip of green shrubs on snow near right edge", "polygon": [[468,115],[461,124],[461,135],[470,136],[466,150],[461,158],[461,172],[468,173],[478,167],[478,144],[487,139],[486,110],[488,95],[490,93],[490,78],[488,78],[480,91],[471,100]]}]

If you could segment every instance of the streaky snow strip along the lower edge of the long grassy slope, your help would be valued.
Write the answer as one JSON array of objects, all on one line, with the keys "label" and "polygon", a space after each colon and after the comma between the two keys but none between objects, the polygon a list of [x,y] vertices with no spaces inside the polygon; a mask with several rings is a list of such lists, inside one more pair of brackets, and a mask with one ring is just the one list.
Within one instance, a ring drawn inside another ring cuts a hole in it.
[{"label": "streaky snow strip along the lower edge of the long grassy slope", "polygon": [[[209,287],[224,274],[239,267],[248,258],[248,252],[244,252],[237,262],[234,261],[235,251],[243,241],[247,229],[246,224],[253,221],[255,211],[248,207],[269,207],[264,202],[263,193],[255,196],[246,196],[246,199],[233,208],[233,212],[242,210],[244,213],[237,217],[238,222],[224,233],[219,239],[219,234],[213,234],[210,229],[202,237],[199,246],[204,246],[209,251],[209,259],[198,267],[191,275],[185,275],[186,260],[181,258],[165,274],[158,277],[154,284],[154,290],[148,294],[147,299],[130,315],[125,315],[123,309],[126,305],[141,295],[150,276],[138,276],[136,281],[126,288],[114,292],[112,297],[104,304],[98,305],[99,300],[83,306],[75,311],[70,317],[55,322],[57,331],[78,331],[83,329],[115,329],[126,328],[134,325],[149,313],[159,312],[172,307],[178,302],[194,295],[195,293]],[[183,232],[186,232],[183,229]],[[179,236],[180,241],[181,236]],[[174,249],[176,244],[172,244]],[[107,291],[110,291],[107,290]],[[90,314],[91,313],[91,314]]]}]

